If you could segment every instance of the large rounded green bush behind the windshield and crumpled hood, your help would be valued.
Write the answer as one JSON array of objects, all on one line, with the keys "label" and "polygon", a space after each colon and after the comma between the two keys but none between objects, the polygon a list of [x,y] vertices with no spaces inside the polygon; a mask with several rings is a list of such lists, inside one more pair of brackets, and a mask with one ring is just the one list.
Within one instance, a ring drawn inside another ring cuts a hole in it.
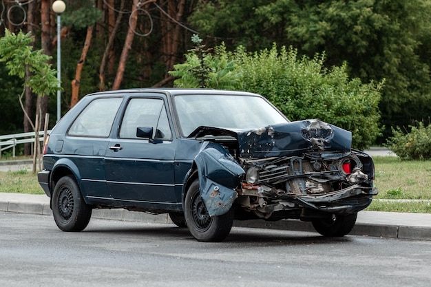
[{"label": "large rounded green bush behind the windshield and crumpled hood", "polygon": [[352,131],[352,145],[366,149],[380,134],[379,101],[383,83],[363,84],[350,79],[346,63],[324,68],[324,54],[313,59],[297,50],[262,50],[235,54],[242,71],[242,89],[262,94],[290,120],[319,118]]}]

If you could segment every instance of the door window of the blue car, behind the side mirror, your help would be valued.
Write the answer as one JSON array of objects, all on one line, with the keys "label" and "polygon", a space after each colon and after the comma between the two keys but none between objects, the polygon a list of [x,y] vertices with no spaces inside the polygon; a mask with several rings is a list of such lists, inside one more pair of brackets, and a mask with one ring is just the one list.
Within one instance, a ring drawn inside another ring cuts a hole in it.
[{"label": "door window of the blue car, behind the side mirror", "polygon": [[120,127],[120,138],[137,138],[136,127],[153,127],[153,138],[170,140],[165,103],[157,98],[132,98]]}]

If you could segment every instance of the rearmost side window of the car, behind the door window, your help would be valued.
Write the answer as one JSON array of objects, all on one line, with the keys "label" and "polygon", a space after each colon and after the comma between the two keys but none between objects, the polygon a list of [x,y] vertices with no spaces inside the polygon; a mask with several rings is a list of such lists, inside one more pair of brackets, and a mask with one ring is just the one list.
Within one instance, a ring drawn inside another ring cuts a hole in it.
[{"label": "rearmost side window of the car, behind the door window", "polygon": [[123,98],[98,98],[79,114],[69,129],[70,136],[107,138]]}]

